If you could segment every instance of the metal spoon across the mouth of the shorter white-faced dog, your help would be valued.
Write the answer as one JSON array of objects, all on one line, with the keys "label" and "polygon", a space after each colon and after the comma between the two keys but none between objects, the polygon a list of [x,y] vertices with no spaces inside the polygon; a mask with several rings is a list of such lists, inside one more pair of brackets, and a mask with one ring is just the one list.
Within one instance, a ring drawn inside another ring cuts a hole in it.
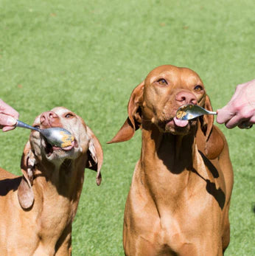
[{"label": "metal spoon across the mouth of the shorter white-faced dog", "polygon": [[71,142],[74,141],[74,136],[72,136],[69,131],[66,131],[66,129],[60,127],[40,129],[27,125],[27,123],[21,122],[20,120],[17,120],[17,124],[15,126],[38,131],[46,138],[49,144],[60,148],[71,146]]}]

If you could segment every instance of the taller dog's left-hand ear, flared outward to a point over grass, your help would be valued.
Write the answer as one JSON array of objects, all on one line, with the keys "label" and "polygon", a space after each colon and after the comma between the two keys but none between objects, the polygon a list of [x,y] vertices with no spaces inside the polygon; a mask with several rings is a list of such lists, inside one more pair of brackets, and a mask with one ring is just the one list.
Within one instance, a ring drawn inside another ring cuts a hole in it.
[{"label": "taller dog's left-hand ear, flared outward to a point over grass", "polygon": [[122,128],[111,139],[110,143],[125,142],[133,137],[135,131],[140,128],[142,124],[141,109],[142,95],[144,91],[144,81],[133,89],[130,100],[128,102],[128,118]]}]

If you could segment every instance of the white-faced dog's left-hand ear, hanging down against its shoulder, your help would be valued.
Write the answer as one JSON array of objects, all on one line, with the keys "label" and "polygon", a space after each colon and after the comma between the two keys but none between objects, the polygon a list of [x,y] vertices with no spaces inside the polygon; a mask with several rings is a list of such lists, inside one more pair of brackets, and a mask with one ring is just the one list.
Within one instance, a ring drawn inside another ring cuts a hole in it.
[{"label": "white-faced dog's left-hand ear, hanging down against its shoulder", "polygon": [[21,178],[21,183],[18,186],[18,201],[23,209],[29,209],[34,203],[32,181],[35,163],[35,155],[32,153],[31,145],[28,141],[21,158],[21,171],[23,176]]}]

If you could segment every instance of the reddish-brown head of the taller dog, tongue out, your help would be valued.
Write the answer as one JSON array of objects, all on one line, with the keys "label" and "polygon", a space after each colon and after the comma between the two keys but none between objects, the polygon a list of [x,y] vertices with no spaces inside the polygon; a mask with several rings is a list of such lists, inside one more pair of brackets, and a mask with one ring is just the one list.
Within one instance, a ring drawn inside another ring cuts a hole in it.
[{"label": "reddish-brown head of the taller dog, tongue out", "polygon": [[[158,66],[133,90],[128,103],[128,119],[108,143],[131,139],[138,128],[156,125],[162,133],[184,136],[199,128],[209,143],[213,130],[213,116],[195,120],[178,120],[175,115],[181,105],[195,104],[212,111],[203,81],[191,69],[172,65]],[[217,133],[217,131],[214,131]]]}]

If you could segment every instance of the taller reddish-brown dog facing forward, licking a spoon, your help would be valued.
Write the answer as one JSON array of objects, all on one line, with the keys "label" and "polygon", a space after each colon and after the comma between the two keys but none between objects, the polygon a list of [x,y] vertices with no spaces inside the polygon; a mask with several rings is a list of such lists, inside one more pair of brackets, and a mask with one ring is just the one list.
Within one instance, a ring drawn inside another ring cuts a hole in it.
[{"label": "taller reddish-brown dog facing forward, licking a spoon", "polygon": [[212,116],[177,120],[177,109],[212,110],[191,69],[159,66],[133,90],[128,119],[109,143],[142,128],[142,152],[125,206],[126,255],[223,255],[233,172]]}]

